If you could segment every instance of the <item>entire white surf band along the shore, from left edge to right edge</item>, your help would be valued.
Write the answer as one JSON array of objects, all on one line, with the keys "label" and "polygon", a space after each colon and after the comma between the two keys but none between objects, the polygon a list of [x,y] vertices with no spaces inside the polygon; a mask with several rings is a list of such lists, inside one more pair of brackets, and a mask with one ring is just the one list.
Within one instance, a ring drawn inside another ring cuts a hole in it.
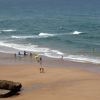
[{"label": "entire white surf band along the shore, from left edge to right edge", "polygon": [[[64,60],[71,60],[75,62],[91,62],[100,64],[100,57],[89,57],[84,55],[68,55],[59,50],[52,50],[50,48],[40,47],[38,45],[32,44],[14,44],[14,43],[7,43],[4,41],[0,41],[0,47],[6,47],[6,49],[1,49],[1,52],[7,53],[16,53],[16,51],[29,51],[39,53],[40,55],[44,55],[51,58],[61,58],[63,55]],[[8,48],[8,49],[7,49]],[[9,49],[12,48],[13,50]]]}]

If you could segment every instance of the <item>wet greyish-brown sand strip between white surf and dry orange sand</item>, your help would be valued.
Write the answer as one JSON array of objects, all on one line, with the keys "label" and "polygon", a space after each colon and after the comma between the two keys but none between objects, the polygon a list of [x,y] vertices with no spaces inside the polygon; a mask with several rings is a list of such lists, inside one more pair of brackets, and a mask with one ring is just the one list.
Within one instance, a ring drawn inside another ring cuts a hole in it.
[{"label": "wet greyish-brown sand strip between white surf and dry orange sand", "polygon": [[[62,60],[60,58],[49,58],[42,56],[43,67],[65,67],[65,68],[78,68],[94,73],[100,73],[100,64],[90,62],[75,62],[70,60]],[[0,52],[0,65],[18,65],[29,64],[33,66],[40,66],[35,58],[28,56],[15,57],[14,54]]]}]

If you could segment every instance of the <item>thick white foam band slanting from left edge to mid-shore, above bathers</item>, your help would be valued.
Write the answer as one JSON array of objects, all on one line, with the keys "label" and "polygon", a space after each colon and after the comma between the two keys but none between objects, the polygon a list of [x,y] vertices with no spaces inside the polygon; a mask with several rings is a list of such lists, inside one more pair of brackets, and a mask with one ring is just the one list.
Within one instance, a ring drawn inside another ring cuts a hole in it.
[{"label": "thick white foam band slanting from left edge to mid-shore, above bathers", "polygon": [[52,54],[56,55],[56,57],[63,54],[62,52],[60,52],[58,50],[51,50],[50,48],[39,47],[38,45],[32,45],[32,44],[14,44],[14,43],[6,43],[6,42],[1,41],[0,46],[13,48],[18,51],[25,50],[25,51],[30,51],[30,52],[38,52],[43,55],[45,55],[45,53],[48,53],[48,54],[51,53],[51,55]]}]

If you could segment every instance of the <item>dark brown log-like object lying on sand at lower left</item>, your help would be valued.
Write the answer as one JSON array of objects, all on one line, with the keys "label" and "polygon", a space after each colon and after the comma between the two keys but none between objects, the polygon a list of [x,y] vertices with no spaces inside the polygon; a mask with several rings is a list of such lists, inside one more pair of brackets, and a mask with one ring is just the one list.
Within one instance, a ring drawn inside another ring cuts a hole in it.
[{"label": "dark brown log-like object lying on sand at lower left", "polygon": [[0,80],[0,97],[16,95],[21,90],[21,87],[22,85],[19,82]]}]

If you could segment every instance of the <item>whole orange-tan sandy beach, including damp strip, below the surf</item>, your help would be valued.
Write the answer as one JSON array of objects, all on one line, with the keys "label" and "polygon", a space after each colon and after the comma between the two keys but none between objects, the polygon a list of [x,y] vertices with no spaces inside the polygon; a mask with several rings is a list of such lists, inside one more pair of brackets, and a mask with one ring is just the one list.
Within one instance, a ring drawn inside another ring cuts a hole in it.
[{"label": "whole orange-tan sandy beach, including damp strip, below the surf", "polygon": [[45,71],[40,73],[38,63],[30,59],[27,63],[27,58],[21,60],[15,59],[13,55],[0,53],[0,80],[22,84],[19,95],[0,100],[100,99],[100,73],[88,70],[99,68],[100,65],[45,59]]}]

